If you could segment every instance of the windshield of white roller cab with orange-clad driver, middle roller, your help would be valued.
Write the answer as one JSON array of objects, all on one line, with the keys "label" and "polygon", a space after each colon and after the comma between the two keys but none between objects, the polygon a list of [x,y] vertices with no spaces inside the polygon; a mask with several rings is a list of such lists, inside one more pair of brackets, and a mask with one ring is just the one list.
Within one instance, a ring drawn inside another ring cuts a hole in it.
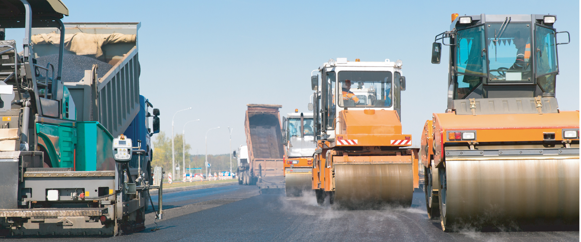
[{"label": "windshield of white roller cab with orange-clad driver, middle roller", "polygon": [[392,106],[390,71],[340,71],[339,85],[340,107]]}]

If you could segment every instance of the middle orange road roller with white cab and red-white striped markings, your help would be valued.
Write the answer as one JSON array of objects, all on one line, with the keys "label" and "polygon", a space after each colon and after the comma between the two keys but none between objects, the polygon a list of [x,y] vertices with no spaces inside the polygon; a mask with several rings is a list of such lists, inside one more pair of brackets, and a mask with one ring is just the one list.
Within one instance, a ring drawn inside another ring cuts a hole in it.
[{"label": "middle orange road roller with white cab and red-white striped markings", "polygon": [[311,72],[317,140],[311,184],[318,204],[329,197],[333,207],[347,209],[411,205],[418,150],[406,148],[411,135],[401,132],[401,66],[401,60],[337,58]]}]

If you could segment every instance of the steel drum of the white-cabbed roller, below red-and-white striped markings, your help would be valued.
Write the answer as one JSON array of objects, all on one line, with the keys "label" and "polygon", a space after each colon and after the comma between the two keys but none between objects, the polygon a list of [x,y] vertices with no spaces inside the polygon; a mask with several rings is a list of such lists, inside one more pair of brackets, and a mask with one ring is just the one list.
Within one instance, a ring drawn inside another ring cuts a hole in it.
[{"label": "steel drum of the white-cabbed roller, below red-and-white striped markings", "polygon": [[335,203],[347,208],[411,205],[411,164],[335,165]]}]

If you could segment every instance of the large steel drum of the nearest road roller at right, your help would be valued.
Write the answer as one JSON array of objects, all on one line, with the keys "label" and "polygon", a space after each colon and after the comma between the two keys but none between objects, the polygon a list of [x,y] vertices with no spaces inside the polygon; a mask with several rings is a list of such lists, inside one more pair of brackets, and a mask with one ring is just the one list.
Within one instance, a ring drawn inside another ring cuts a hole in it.
[{"label": "large steel drum of the nearest road roller at right", "polygon": [[579,158],[454,160],[446,161],[445,173],[443,226],[579,221]]}]

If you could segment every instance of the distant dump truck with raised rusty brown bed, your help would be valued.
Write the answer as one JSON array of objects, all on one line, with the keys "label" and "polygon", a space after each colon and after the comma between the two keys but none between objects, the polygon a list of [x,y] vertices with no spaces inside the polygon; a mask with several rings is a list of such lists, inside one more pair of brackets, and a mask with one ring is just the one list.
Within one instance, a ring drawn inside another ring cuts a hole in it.
[{"label": "distant dump truck with raised rusty brown bed", "polygon": [[244,128],[248,162],[238,167],[244,185],[256,185],[260,192],[280,192],[285,188],[284,147],[281,140],[281,105],[247,104]]}]

